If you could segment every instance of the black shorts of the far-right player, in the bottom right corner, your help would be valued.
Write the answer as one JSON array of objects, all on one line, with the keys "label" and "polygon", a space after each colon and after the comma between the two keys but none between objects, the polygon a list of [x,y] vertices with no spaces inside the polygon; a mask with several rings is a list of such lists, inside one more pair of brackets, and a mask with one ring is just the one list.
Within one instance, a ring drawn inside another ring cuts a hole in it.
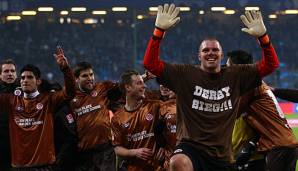
[{"label": "black shorts of the far-right player, in the bottom right corner", "polygon": [[298,148],[281,147],[269,151],[266,155],[267,169],[270,171],[295,171]]}]

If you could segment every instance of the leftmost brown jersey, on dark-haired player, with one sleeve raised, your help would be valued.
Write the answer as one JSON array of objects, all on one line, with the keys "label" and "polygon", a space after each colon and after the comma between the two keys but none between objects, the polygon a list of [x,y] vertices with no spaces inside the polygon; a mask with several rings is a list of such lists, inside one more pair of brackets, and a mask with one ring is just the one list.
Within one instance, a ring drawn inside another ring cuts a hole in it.
[{"label": "leftmost brown jersey, on dark-haired player, with one sleeve raised", "polygon": [[32,167],[55,162],[53,114],[57,107],[71,100],[75,93],[70,70],[64,74],[66,89],[41,93],[26,99],[20,90],[0,95],[0,110],[9,113],[12,166]]}]

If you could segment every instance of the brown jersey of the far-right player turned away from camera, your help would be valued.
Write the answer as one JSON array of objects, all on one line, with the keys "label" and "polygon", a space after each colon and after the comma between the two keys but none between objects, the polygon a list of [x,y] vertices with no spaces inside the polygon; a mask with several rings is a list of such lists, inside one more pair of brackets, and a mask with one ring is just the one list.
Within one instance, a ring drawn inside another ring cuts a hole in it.
[{"label": "brown jersey of the far-right player turned away from camera", "polygon": [[272,91],[265,83],[256,91],[258,97],[249,105],[245,119],[260,134],[259,150],[297,146],[295,135]]}]

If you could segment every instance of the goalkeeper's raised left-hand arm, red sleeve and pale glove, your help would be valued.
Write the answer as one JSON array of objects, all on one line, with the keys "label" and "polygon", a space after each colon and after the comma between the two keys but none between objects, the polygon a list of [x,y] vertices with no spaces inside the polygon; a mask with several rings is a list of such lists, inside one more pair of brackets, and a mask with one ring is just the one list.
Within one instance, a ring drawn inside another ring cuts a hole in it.
[{"label": "goalkeeper's raised left-hand arm, red sleeve and pale glove", "polygon": [[160,76],[164,69],[164,62],[159,57],[160,42],[164,37],[165,31],[180,21],[180,17],[177,17],[178,14],[179,8],[175,7],[174,4],[158,6],[155,29],[147,45],[143,60],[144,67],[156,76]]}]

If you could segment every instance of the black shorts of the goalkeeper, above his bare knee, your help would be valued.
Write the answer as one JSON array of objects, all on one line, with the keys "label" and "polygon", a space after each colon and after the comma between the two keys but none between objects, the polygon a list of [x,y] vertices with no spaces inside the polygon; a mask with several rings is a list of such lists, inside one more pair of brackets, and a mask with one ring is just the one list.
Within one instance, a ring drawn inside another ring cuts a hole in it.
[{"label": "black shorts of the goalkeeper, above his bare knee", "polygon": [[181,142],[178,144],[173,155],[175,154],[184,154],[188,156],[192,162],[194,171],[231,170],[231,165],[228,161],[221,161],[214,157],[208,156],[189,145],[189,143]]}]

